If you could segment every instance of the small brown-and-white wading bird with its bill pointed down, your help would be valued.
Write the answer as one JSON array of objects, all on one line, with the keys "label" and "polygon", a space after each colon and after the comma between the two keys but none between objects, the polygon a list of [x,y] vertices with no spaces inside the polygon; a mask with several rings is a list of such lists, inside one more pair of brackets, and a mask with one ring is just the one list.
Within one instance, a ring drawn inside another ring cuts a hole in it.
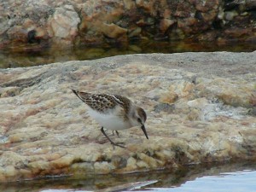
[{"label": "small brown-and-white wading bird with its bill pointed down", "polygon": [[102,125],[101,131],[103,135],[108,138],[108,141],[113,146],[125,148],[120,143],[113,143],[104,131],[104,128],[116,131],[119,135],[119,130],[140,126],[148,139],[148,134],[144,126],[147,114],[143,108],[138,107],[125,96],[92,94],[79,90],[73,90],[73,93],[89,107],[88,113],[90,117]]}]

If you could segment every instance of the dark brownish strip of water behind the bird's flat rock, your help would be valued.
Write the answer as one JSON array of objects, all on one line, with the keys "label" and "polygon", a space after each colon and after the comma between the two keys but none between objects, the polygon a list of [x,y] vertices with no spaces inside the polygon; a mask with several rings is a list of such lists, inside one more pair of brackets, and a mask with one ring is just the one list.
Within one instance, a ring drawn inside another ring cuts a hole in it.
[{"label": "dark brownish strip of water behind the bird's flat rock", "polygon": [[93,60],[113,55],[142,54],[142,53],[177,53],[188,51],[253,51],[256,44],[244,44],[229,42],[225,44],[192,43],[182,42],[156,42],[136,41],[129,45],[80,45],[65,49],[38,47],[13,46],[8,49],[0,49],[0,68],[7,67],[30,67],[62,61]]}]

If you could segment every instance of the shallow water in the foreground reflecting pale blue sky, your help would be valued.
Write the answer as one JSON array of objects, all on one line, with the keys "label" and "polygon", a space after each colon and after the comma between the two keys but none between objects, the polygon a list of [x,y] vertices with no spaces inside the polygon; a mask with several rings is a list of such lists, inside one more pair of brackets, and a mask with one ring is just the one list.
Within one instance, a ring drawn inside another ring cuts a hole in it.
[{"label": "shallow water in the foreground reflecting pale blue sky", "polygon": [[224,166],[189,166],[176,172],[144,172],[96,177],[48,178],[35,181],[3,183],[7,192],[253,192],[256,191],[256,164]]}]

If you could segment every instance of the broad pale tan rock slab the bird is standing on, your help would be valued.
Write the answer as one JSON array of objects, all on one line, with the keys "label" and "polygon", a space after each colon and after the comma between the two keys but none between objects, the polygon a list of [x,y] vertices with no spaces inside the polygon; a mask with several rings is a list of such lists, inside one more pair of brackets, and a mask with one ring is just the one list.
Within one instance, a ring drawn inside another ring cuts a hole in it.
[{"label": "broad pale tan rock slab the bird is standing on", "polygon": [[[256,52],[122,55],[0,70],[0,181],[256,160]],[[121,94],[148,114],[106,131],[71,88]]]}]

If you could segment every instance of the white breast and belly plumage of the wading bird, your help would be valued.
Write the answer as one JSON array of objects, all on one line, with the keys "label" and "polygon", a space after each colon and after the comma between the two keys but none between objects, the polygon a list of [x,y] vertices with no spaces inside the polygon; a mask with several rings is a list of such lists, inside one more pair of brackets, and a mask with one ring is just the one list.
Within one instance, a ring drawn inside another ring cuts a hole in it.
[{"label": "white breast and belly plumage of the wading bird", "polygon": [[90,117],[96,120],[100,125],[102,125],[105,129],[108,130],[125,130],[131,128],[130,122],[124,121],[124,119],[120,118],[116,113],[116,110],[109,113],[98,113],[91,108],[88,110]]}]

